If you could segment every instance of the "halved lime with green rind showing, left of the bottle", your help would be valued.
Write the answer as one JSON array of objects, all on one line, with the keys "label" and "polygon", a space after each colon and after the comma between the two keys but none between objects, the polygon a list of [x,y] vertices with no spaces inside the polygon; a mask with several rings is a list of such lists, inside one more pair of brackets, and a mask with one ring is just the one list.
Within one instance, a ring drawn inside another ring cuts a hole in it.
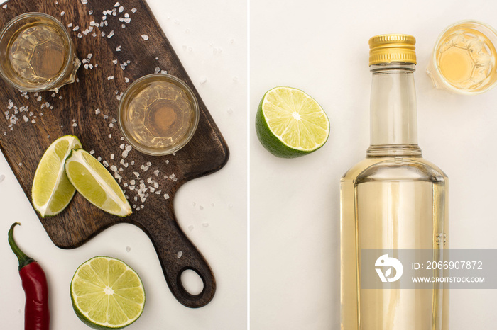
[{"label": "halved lime with green rind showing, left of the bottle", "polygon": [[300,89],[275,87],[264,94],[259,104],[256,132],[271,154],[295,158],[324,145],[329,120],[319,103]]}]

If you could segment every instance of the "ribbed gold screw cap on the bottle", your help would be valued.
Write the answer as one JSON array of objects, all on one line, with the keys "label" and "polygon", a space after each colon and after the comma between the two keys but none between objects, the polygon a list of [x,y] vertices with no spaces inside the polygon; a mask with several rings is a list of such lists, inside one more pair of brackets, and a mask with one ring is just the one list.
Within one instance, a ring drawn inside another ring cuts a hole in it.
[{"label": "ribbed gold screw cap on the bottle", "polygon": [[369,65],[403,62],[416,64],[416,38],[412,35],[376,35],[369,39]]}]

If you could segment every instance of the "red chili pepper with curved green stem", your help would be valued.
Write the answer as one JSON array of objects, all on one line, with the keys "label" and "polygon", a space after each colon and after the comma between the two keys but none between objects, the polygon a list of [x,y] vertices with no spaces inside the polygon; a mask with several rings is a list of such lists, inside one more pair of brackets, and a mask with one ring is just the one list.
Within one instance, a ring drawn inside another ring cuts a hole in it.
[{"label": "red chili pepper with curved green stem", "polygon": [[50,312],[48,311],[47,278],[40,265],[18,248],[13,240],[12,224],[9,230],[9,245],[19,260],[19,275],[26,293],[26,307],[24,311],[25,330],[48,330],[50,328]]}]

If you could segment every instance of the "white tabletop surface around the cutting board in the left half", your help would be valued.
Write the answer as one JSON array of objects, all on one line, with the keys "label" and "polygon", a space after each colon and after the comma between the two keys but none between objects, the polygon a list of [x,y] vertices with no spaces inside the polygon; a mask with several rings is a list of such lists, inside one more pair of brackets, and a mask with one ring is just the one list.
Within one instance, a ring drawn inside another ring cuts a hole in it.
[{"label": "white tabletop surface around the cutting board in the left half", "polygon": [[[0,183],[1,329],[23,329],[24,293],[17,259],[6,239],[13,222],[22,224],[15,232],[19,246],[37,259],[47,274],[50,329],[89,329],[72,311],[69,285],[77,266],[97,255],[121,258],[141,275],[146,306],[140,319],[127,329],[246,329],[246,3],[148,0],[148,4],[231,152],[221,171],[190,181],[175,197],[180,226],[216,276],[214,300],[200,309],[180,305],[165,283],[151,241],[131,224],[106,229],[80,248],[58,249],[1,156],[0,176],[5,176]],[[132,25],[133,20],[128,28]],[[6,100],[0,101],[2,107]],[[205,223],[209,226],[204,227]],[[129,252],[126,246],[131,247]]]}]

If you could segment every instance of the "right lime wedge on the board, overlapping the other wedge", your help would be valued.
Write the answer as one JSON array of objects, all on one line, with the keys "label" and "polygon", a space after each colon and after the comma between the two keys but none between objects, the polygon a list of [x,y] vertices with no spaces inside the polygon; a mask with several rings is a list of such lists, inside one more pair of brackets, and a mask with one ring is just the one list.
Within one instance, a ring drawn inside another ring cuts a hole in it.
[{"label": "right lime wedge on the board, overlapping the other wedge", "polygon": [[83,149],[73,150],[65,161],[65,172],[78,193],[112,215],[131,215],[126,196],[111,173]]}]

